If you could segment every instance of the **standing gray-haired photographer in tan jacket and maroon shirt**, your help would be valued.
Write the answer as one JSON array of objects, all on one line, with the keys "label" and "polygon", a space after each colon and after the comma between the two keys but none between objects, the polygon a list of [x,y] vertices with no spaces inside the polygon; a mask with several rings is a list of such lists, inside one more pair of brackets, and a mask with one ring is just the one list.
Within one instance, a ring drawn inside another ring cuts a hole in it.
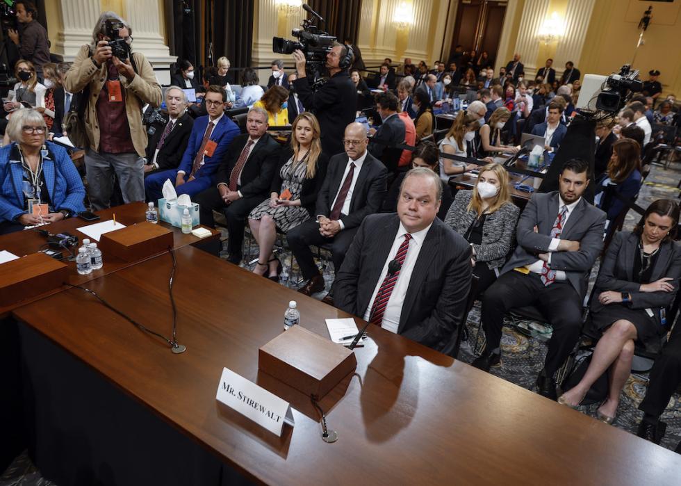
[{"label": "standing gray-haired photographer in tan jacket and maroon shirt", "polygon": [[[114,173],[124,202],[145,200],[147,131],[142,106],[156,108],[163,95],[149,60],[131,52],[132,40],[130,26],[121,17],[102,13],[92,44],[81,47],[64,80],[67,91],[81,93],[79,113],[88,138],[85,170],[94,211],[110,205]],[[69,127],[69,136],[71,132]]]}]

